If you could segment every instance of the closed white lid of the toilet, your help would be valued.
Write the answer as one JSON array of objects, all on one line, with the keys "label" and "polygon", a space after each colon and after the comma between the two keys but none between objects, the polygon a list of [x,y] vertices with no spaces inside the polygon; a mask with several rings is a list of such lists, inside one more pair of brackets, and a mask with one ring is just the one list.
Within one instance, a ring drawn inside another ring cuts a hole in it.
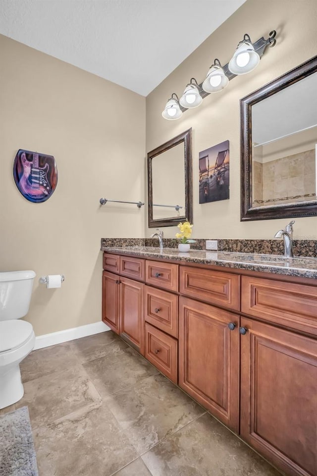
[{"label": "closed white lid of the toilet", "polygon": [[0,321],[0,352],[22,346],[33,332],[32,324],[20,319]]}]

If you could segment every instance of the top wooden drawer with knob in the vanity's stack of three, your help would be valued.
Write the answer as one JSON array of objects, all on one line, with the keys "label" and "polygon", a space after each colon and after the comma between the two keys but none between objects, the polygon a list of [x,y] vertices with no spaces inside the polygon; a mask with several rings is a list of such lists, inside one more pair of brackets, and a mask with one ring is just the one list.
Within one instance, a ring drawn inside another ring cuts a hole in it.
[{"label": "top wooden drawer with knob in the vanity's stack of three", "polygon": [[168,291],[178,291],[178,264],[146,260],[146,282]]}]

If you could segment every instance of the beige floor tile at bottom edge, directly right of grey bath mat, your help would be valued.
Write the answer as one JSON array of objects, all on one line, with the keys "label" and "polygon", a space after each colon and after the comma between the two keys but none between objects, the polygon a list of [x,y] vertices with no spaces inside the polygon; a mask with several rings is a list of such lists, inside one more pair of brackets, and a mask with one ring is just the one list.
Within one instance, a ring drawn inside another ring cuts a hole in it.
[{"label": "beige floor tile at bottom edge, directly right of grey bath mat", "polygon": [[106,406],[59,418],[33,437],[39,476],[110,476],[137,457]]}]

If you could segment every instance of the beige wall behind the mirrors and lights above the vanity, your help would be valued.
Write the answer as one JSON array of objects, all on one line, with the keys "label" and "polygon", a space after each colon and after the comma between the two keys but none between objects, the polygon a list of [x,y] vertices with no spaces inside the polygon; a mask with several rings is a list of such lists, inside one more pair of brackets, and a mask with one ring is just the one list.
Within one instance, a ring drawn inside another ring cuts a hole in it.
[{"label": "beige wall behind the mirrors and lights above the vanity", "polygon": [[[239,100],[316,55],[316,20],[316,0],[247,0],[147,97],[147,151],[193,127],[193,237],[272,238],[287,224],[287,219],[240,222]],[[245,33],[257,41],[272,29],[277,31],[276,46],[266,51],[253,72],[234,78],[224,91],[211,94],[181,119],[161,117],[171,93],[180,97],[193,76],[201,82],[215,58],[228,62]],[[199,152],[224,140],[230,141],[230,199],[199,205]],[[317,218],[296,218],[294,229],[299,238],[317,239]],[[175,228],[164,228],[166,237],[175,233]]]}]

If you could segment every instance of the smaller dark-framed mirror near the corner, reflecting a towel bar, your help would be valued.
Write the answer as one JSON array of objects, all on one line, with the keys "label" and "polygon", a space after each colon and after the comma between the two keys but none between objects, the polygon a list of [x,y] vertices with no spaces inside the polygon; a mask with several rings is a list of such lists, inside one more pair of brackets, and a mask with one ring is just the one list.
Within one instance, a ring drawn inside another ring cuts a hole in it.
[{"label": "smaller dark-framed mirror near the corner, reflecting a towel bar", "polygon": [[193,223],[192,129],[148,153],[149,228]]}]

